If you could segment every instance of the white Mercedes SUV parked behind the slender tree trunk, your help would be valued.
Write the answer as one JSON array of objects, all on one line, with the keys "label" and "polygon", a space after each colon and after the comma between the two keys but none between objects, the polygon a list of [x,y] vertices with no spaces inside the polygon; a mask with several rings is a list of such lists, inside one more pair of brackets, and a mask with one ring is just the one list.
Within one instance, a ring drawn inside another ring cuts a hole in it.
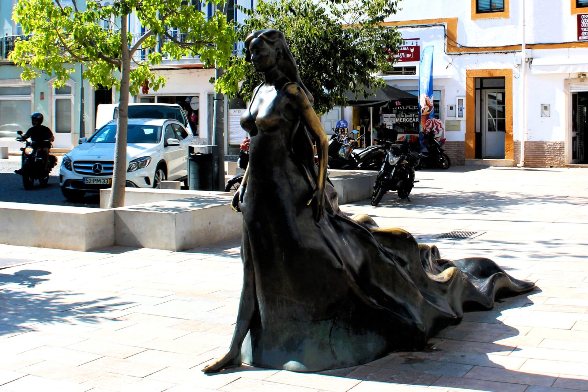
[{"label": "white Mercedes SUV parked behind the slender tree trunk", "polygon": [[[59,183],[67,199],[112,186],[116,121],[111,120],[68,152]],[[172,119],[129,119],[126,147],[126,186],[159,187],[163,180],[188,177],[188,146],[193,142],[184,126]]]}]

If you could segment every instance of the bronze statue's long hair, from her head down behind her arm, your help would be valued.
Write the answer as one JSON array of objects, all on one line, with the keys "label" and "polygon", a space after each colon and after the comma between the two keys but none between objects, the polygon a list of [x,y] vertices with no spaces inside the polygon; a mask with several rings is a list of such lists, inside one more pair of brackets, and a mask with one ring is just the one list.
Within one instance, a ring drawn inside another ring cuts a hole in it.
[{"label": "bronze statue's long hair, from her head down behind her arm", "polygon": [[[245,61],[247,62],[251,62],[251,52],[249,51],[249,45],[251,41],[256,38],[263,39],[263,41],[268,43],[268,45],[272,46],[274,49],[279,48],[282,50],[282,56],[280,56],[278,59],[278,67],[280,71],[284,73],[286,79],[288,79],[290,82],[297,83],[300,88],[302,88],[308,97],[310,105],[312,105],[315,99],[313,98],[312,93],[310,93],[310,91],[302,82],[302,79],[300,79],[300,73],[298,72],[296,60],[294,59],[294,56],[292,56],[290,48],[288,48],[288,43],[286,43],[286,38],[283,33],[275,29],[265,29],[252,32],[245,39]],[[308,133],[308,130],[306,130],[306,127],[302,121],[298,126],[298,130],[296,130],[295,134],[293,135],[292,151],[294,156],[298,158],[303,171],[309,179],[312,189],[314,189],[316,187],[317,170],[315,165],[315,150],[312,139],[310,138],[310,134]]]}]

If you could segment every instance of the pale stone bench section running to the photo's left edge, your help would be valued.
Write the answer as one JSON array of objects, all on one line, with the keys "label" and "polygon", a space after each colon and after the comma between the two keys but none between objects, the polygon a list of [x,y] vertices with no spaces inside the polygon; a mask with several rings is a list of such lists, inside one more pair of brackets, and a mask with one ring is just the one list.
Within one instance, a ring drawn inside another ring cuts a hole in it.
[{"label": "pale stone bench section running to the photo's left edge", "polygon": [[0,202],[0,243],[68,250],[115,244],[113,210]]}]

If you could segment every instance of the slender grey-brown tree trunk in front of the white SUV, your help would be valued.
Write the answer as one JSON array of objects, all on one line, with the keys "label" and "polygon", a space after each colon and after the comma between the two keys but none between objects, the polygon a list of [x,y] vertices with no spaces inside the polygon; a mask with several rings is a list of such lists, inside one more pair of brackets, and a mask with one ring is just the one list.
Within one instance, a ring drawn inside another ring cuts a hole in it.
[{"label": "slender grey-brown tree trunk in front of the white SUV", "polygon": [[118,123],[116,126],[116,143],[114,148],[114,173],[112,192],[108,208],[125,205],[126,169],[126,131],[129,122],[129,81],[131,78],[131,52],[127,42],[128,15],[121,15],[121,95],[118,104]]}]

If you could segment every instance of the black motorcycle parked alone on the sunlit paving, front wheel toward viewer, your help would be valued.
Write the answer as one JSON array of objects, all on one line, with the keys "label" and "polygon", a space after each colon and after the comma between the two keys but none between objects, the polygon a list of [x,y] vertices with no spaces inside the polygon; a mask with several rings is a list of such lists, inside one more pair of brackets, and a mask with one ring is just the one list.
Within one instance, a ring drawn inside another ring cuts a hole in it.
[{"label": "black motorcycle parked alone on the sunlit paving, front wheel toward viewer", "polygon": [[373,185],[372,206],[377,206],[388,190],[396,190],[400,199],[407,199],[415,181],[415,169],[422,153],[411,151],[402,143],[386,143],[386,159]]}]

